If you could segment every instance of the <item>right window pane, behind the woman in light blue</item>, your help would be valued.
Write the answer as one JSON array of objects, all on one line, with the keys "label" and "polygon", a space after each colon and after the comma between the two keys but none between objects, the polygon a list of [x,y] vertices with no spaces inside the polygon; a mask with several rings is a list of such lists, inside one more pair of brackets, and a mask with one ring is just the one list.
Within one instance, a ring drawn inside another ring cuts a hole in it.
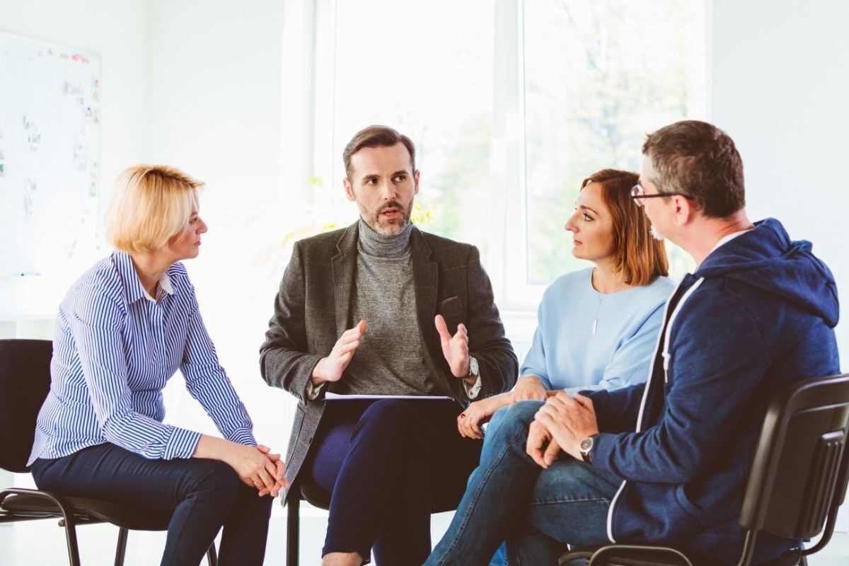
[{"label": "right window pane, behind the woman in light blue", "polygon": [[524,23],[528,283],[548,284],[589,265],[564,231],[582,180],[639,171],[646,133],[704,116],[704,2],[526,0]]}]

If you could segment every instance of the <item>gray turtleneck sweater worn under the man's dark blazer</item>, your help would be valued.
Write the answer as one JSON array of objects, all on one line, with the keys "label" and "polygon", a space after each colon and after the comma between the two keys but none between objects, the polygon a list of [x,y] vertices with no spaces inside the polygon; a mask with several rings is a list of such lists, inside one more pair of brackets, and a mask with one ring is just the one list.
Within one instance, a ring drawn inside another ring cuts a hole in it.
[{"label": "gray turtleneck sweater worn under the man's dark blazer", "polygon": [[424,361],[416,317],[413,261],[408,224],[384,236],[359,223],[357,274],[351,293],[353,322],[367,322],[338,393],[435,395],[436,384]]}]

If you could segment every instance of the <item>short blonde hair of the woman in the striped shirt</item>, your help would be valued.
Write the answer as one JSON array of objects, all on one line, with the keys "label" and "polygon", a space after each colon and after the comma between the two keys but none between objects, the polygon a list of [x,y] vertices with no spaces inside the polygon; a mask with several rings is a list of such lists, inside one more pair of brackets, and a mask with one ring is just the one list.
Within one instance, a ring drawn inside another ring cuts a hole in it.
[{"label": "short blonde hair of the woman in the striped shirt", "polygon": [[115,249],[142,253],[162,249],[188,227],[204,186],[167,165],[133,165],[115,180],[106,210],[106,238]]}]

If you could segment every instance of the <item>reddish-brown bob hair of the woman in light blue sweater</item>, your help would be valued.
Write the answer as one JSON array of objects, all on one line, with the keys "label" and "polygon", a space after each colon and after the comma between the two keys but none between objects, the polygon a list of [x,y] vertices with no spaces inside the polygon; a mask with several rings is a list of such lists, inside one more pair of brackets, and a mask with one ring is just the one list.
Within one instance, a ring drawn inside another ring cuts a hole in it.
[{"label": "reddish-brown bob hair of the woman in light blue sweater", "polygon": [[666,248],[651,235],[651,225],[643,209],[634,205],[631,189],[639,176],[631,171],[603,169],[581,183],[601,185],[601,199],[613,220],[613,268],[623,272],[625,283],[647,285],[669,273]]}]

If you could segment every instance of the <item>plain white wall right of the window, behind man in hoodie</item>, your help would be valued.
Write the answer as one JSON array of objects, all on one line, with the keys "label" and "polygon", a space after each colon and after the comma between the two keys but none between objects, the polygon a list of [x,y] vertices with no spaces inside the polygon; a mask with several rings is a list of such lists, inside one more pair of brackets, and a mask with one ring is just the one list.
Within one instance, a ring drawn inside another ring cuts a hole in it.
[{"label": "plain white wall right of the window, behind man in hoodie", "polygon": [[[750,218],[774,216],[790,238],[810,240],[843,300],[849,298],[847,29],[843,0],[713,2],[711,121],[743,156]],[[847,326],[837,327],[843,371]],[[849,530],[846,505],[837,529]]]}]

